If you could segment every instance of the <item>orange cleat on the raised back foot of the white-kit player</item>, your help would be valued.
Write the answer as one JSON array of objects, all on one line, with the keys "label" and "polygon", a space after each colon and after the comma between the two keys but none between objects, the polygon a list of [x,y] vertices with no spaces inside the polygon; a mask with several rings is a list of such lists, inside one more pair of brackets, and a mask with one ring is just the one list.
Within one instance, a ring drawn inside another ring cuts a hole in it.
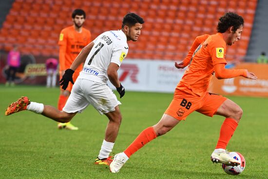
[{"label": "orange cleat on the raised back foot of the white-kit player", "polygon": [[16,102],[13,102],[7,107],[7,109],[5,110],[5,115],[8,116],[13,113],[26,110],[28,104],[30,104],[30,100],[28,99],[28,97],[21,97]]}]

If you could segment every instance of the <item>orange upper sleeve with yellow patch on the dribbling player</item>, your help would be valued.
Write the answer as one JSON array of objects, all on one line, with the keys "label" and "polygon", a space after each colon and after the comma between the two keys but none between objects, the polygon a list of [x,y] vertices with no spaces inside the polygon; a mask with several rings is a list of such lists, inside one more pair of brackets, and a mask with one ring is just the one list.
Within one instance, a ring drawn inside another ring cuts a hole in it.
[{"label": "orange upper sleeve with yellow patch on the dribbling player", "polygon": [[219,63],[227,64],[225,60],[226,44],[222,40],[212,39],[209,44],[209,53],[211,54],[213,66]]}]

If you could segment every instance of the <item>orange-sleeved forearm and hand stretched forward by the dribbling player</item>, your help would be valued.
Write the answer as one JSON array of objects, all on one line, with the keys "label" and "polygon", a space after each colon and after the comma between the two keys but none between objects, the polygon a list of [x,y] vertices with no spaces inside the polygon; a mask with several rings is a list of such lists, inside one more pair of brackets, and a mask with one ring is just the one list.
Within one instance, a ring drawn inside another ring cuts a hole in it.
[{"label": "orange-sleeved forearm and hand stretched forward by the dribbling player", "polygon": [[239,76],[252,80],[257,79],[257,76],[254,73],[248,72],[248,70],[246,69],[234,69],[234,70],[226,69],[225,63],[219,63],[214,65],[214,70],[215,70],[215,77],[219,80],[230,79]]}]

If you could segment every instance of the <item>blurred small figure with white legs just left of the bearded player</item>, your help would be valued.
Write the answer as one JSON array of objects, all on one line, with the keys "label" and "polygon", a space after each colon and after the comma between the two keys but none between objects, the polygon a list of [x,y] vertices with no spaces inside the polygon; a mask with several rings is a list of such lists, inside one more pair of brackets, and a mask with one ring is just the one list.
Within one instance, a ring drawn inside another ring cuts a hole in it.
[{"label": "blurred small figure with white legs just left of the bearded player", "polygon": [[57,79],[57,59],[50,58],[46,60],[46,87],[55,87]]}]

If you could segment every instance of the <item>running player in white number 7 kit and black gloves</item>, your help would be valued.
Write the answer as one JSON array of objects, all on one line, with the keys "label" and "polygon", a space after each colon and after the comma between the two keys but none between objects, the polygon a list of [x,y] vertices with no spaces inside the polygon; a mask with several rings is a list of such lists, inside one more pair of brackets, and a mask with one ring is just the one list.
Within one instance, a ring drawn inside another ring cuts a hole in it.
[{"label": "running player in white number 7 kit and black gloves", "polygon": [[117,70],[128,54],[127,41],[138,39],[143,23],[141,17],[128,13],[123,18],[121,30],[104,32],[81,50],[60,80],[62,89],[66,89],[70,81],[74,84],[72,75],[78,65],[85,62],[62,111],[22,97],[9,105],[5,115],[30,110],[65,123],[92,104],[101,115],[105,114],[109,119],[105,139],[95,163],[109,165],[112,162],[109,154],[114,147],[122,117],[118,106],[121,103],[107,85],[107,80],[111,81],[122,98],[125,89],[118,80]]}]

